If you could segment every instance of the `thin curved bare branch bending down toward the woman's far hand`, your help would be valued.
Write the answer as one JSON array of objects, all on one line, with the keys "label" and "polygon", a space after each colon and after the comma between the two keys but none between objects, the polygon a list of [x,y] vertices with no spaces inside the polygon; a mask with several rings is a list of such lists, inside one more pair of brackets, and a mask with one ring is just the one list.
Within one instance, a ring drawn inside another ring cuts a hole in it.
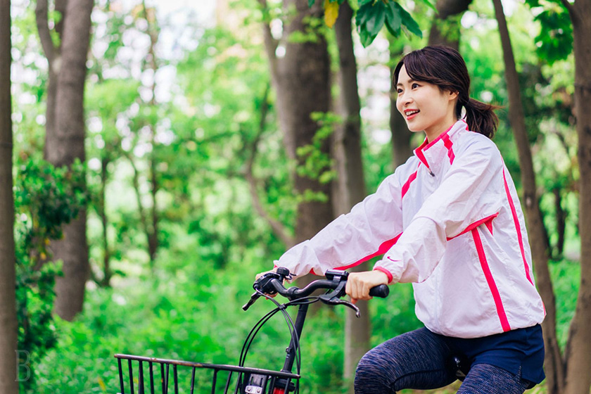
[{"label": "thin curved bare branch bending down toward the woman's far hand", "polygon": [[[264,0],[262,0],[264,1]],[[265,121],[267,120],[267,113],[269,112],[269,91],[271,90],[270,85],[267,85],[267,89],[265,89],[265,95],[263,97],[262,106],[260,108],[260,122],[258,133],[255,136],[255,140],[252,144],[250,144],[250,157],[246,161],[246,181],[248,182],[248,191],[250,191],[250,198],[253,199],[253,205],[255,206],[255,210],[257,210],[258,214],[271,226],[274,234],[283,241],[283,243],[287,247],[291,247],[295,244],[295,239],[291,236],[286,227],[279,222],[279,220],[275,220],[269,212],[265,210],[262,206],[260,201],[260,197],[258,195],[258,187],[257,187],[257,180],[253,175],[253,163],[255,162],[256,154],[257,154],[257,147],[258,143],[261,139],[262,133],[265,130]]]}]

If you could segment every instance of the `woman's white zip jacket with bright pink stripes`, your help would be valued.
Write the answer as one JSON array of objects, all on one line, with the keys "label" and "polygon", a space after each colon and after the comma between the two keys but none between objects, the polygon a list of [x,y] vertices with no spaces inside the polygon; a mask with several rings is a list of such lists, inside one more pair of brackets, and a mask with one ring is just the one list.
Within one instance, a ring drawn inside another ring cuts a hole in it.
[{"label": "woman's white zip jacket with bright pink stripes", "polygon": [[391,283],[413,282],[417,317],[433,332],[476,338],[545,317],[511,176],[497,146],[462,120],[275,265],[301,275],[378,255],[374,269]]}]

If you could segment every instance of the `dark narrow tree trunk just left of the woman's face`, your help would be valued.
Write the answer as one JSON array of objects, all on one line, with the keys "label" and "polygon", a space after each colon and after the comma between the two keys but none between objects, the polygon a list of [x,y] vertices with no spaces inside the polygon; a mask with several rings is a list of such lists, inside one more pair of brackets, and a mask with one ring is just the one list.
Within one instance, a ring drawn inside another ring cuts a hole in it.
[{"label": "dark narrow tree trunk just left of the woman's face", "polygon": [[396,85],[394,84],[394,68],[402,57],[402,46],[398,42],[390,42],[390,132],[392,133],[392,155],[394,168],[402,165],[412,155],[409,131],[405,118],[396,108]]}]

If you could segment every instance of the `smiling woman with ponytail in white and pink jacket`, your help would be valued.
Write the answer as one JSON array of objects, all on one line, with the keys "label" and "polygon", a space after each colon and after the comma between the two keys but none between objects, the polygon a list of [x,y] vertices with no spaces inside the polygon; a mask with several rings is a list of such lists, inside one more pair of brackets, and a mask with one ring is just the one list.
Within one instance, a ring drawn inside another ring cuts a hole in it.
[{"label": "smiling woman with ponytail in white and pink jacket", "polygon": [[[544,379],[540,323],[519,198],[490,138],[494,107],[469,98],[462,56],[445,46],[408,53],[395,68],[396,106],[424,143],[376,193],[275,262],[297,275],[346,269],[346,291],[368,300],[379,284],[412,282],[424,328],[367,352],[355,393],[438,388],[469,372],[458,393],[523,393]],[[462,118],[462,113],[465,116]]]}]

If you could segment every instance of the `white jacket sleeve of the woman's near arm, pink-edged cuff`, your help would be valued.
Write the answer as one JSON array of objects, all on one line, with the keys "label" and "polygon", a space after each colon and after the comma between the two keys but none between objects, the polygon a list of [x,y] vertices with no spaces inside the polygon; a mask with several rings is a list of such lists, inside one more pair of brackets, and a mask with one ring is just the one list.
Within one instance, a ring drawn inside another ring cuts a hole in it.
[{"label": "white jacket sleeve of the woman's near arm, pink-edged cuff", "polygon": [[374,269],[390,282],[421,282],[443,258],[447,241],[498,215],[502,158],[492,141],[476,140],[457,155],[438,188]]}]

